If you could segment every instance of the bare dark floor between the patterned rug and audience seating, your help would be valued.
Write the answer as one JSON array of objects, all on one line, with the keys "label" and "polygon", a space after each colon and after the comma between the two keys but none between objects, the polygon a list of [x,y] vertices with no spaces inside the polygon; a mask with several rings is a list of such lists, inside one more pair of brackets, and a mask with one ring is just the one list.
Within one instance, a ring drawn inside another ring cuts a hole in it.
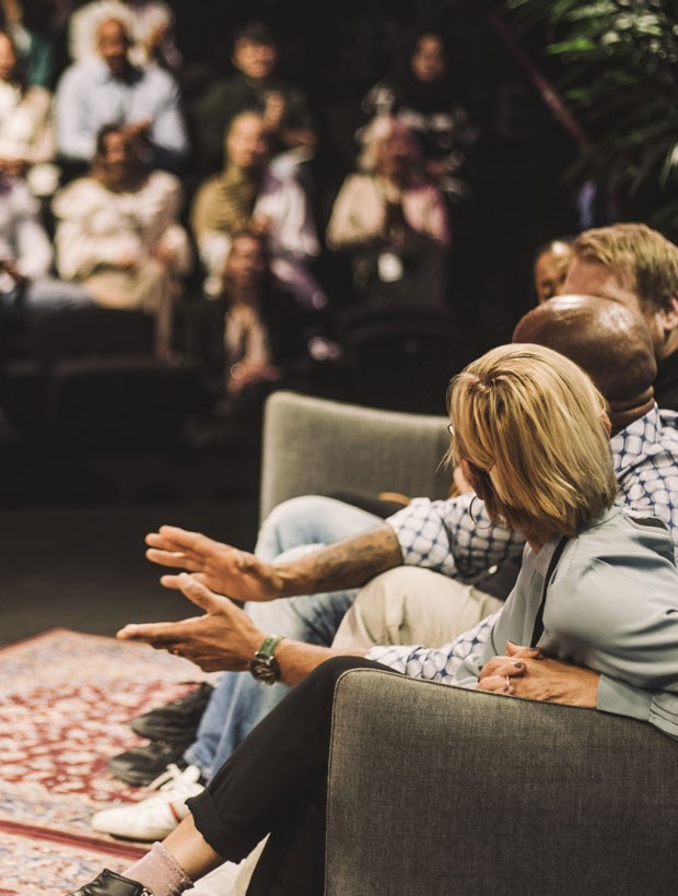
[{"label": "bare dark floor between the patterned rug and audience seating", "polygon": [[252,547],[258,453],[4,452],[0,642],[52,627],[113,635],[190,615],[157,583],[143,537],[162,523]]}]

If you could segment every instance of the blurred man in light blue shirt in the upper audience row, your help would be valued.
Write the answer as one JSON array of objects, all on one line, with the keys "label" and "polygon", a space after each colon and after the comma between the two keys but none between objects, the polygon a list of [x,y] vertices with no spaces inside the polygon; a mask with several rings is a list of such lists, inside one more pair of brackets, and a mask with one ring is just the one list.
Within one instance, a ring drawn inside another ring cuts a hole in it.
[{"label": "blurred man in light blue shirt in the upper audience row", "polygon": [[125,23],[104,20],[97,56],[69,66],[56,91],[57,150],[66,161],[89,163],[106,125],[125,125],[153,168],[178,170],[189,152],[179,90],[159,67],[135,66]]}]

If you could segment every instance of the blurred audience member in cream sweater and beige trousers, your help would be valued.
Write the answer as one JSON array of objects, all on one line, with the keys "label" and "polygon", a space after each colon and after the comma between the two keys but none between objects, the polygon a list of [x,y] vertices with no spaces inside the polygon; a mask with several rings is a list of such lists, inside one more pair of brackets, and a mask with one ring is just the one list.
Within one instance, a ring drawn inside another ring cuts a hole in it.
[{"label": "blurred audience member in cream sweater and beige trousers", "polygon": [[57,266],[97,305],[154,315],[155,350],[172,359],[172,322],[183,275],[190,270],[188,234],[178,223],[182,185],[141,162],[137,140],[116,125],[100,132],[90,174],[52,202]]}]

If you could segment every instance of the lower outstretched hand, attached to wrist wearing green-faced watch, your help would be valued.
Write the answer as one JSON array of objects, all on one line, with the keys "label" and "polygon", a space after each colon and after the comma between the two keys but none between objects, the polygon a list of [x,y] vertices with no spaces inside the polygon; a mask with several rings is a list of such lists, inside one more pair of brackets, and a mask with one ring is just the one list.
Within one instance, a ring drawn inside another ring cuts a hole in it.
[{"label": "lower outstretched hand, attached to wrist wearing green-faced watch", "polygon": [[265,633],[229,598],[214,594],[195,576],[173,576],[177,587],[203,614],[180,622],[126,625],[117,637],[150,644],[191,660],[206,672],[242,672],[261,646]]}]

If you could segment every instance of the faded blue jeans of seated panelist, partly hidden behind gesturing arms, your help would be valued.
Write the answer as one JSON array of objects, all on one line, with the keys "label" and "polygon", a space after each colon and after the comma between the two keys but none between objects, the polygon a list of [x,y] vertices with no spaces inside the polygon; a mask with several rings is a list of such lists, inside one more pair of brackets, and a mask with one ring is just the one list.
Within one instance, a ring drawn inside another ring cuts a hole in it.
[{"label": "faded blue jeans of seated panelist, partly hidden behind gesturing arms", "polygon": [[[378,526],[381,517],[334,498],[307,495],[279,505],[264,521],[255,553],[272,561],[299,556]],[[358,589],[249,602],[245,610],[261,630],[329,647]],[[224,672],[202,715],[196,740],[184,754],[209,781],[249,731],[289,692],[283,684],[257,682],[243,672]]]}]

